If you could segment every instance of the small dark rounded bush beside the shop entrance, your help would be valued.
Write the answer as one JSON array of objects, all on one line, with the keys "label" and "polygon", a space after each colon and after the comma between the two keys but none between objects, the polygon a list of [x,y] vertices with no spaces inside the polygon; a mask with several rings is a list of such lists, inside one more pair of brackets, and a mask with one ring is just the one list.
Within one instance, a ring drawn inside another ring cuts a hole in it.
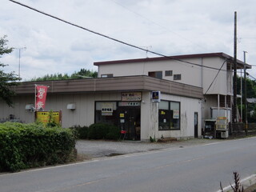
[{"label": "small dark rounded bush beside the shop entrance", "polygon": [[120,130],[116,126],[104,123],[94,123],[88,128],[88,138],[90,139],[114,139],[120,136]]}]

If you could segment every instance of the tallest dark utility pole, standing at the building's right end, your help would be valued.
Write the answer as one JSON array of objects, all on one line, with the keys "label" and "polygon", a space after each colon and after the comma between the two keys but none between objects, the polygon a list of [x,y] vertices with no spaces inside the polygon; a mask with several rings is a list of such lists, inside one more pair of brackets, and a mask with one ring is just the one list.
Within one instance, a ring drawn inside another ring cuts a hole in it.
[{"label": "tallest dark utility pole, standing at the building's right end", "polygon": [[234,75],[232,123],[237,122],[237,12],[234,12]]}]

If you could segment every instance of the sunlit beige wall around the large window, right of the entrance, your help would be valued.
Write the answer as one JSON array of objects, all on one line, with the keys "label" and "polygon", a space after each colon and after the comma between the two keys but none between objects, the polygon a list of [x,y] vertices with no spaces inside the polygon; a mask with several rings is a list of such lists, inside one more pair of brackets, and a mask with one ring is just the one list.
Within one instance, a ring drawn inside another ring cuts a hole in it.
[{"label": "sunlit beige wall around the large window, right of the entrance", "polygon": [[162,100],[180,102],[181,129],[158,130],[158,103],[152,103],[150,93],[143,92],[141,114],[141,139],[152,138],[194,138],[194,112],[198,112],[198,136],[202,135],[202,102],[196,98],[185,98],[170,94],[161,94]]}]

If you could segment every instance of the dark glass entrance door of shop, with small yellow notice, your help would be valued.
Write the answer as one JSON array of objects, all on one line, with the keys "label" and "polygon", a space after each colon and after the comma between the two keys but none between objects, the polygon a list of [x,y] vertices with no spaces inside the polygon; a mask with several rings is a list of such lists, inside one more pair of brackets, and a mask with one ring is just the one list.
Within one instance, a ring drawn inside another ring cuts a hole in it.
[{"label": "dark glass entrance door of shop, with small yellow notice", "polygon": [[126,139],[140,140],[141,110],[140,107],[119,107],[120,125],[126,130]]}]

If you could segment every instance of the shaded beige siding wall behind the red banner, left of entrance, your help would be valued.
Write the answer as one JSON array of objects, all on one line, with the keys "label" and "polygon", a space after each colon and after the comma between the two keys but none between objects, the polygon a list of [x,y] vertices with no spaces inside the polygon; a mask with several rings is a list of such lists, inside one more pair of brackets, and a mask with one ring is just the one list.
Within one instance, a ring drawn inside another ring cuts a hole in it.
[{"label": "shaded beige siding wall behind the red banner, left of entrance", "polygon": [[[94,123],[95,101],[120,101],[120,93],[106,94],[48,94],[46,98],[46,111],[62,110],[62,127],[74,125],[90,126]],[[18,96],[14,99],[14,108],[8,107],[0,101],[0,117],[9,118],[14,114],[15,118],[22,122],[34,122],[34,113],[25,110],[26,104],[34,104],[33,96]],[[75,110],[67,110],[69,103],[75,103]]]}]

